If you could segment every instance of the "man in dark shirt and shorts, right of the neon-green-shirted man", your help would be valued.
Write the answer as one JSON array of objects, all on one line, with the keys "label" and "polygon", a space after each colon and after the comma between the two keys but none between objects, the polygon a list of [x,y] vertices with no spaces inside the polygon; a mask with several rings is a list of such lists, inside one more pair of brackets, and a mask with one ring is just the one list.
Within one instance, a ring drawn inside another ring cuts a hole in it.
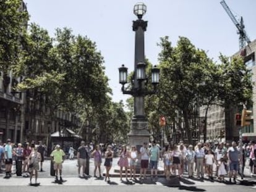
[{"label": "man in dark shirt and shorts, right of the neon-green-shirted man", "polygon": [[[81,141],[81,146],[77,149],[77,164],[79,177],[85,177],[85,167],[88,158],[87,146],[85,146],[85,141]],[[81,167],[83,173],[80,175]]]}]

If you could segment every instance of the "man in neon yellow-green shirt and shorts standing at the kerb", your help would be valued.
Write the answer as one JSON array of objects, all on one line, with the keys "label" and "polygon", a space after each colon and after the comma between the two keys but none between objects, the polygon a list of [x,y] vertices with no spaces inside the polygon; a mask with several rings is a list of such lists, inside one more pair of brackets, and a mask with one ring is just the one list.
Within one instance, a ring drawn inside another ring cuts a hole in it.
[{"label": "man in neon yellow-green shirt and shorts standing at the kerb", "polygon": [[56,181],[58,181],[58,172],[59,172],[59,181],[63,182],[61,174],[62,174],[62,163],[64,162],[65,153],[61,149],[59,144],[56,145],[53,152],[51,152],[53,168],[55,170]]}]

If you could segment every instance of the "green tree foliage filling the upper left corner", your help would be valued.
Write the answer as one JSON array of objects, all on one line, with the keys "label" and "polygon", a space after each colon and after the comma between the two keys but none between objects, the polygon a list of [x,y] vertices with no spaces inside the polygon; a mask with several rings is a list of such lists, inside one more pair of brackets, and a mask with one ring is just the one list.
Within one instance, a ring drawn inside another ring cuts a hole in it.
[{"label": "green tree foliage filling the upper left corner", "polygon": [[22,10],[20,0],[1,0],[0,3],[0,71],[7,70],[19,63],[22,44],[28,20],[27,10]]}]

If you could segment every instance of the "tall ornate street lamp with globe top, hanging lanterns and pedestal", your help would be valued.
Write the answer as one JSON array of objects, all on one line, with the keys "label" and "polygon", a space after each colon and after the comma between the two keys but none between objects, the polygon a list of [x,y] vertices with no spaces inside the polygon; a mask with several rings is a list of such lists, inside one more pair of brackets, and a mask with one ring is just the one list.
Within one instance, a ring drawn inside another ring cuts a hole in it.
[{"label": "tall ornate street lamp with globe top, hanging lanterns and pedestal", "polygon": [[142,2],[135,4],[134,14],[138,19],[133,22],[132,30],[135,31],[135,61],[134,76],[130,83],[130,89],[124,87],[127,83],[127,68],[122,65],[119,68],[119,83],[122,84],[122,93],[134,96],[134,117],[132,118],[129,144],[141,146],[148,143],[150,133],[148,132],[148,121],[144,111],[144,97],[148,94],[157,93],[156,85],[159,83],[160,69],[156,66],[151,70],[151,83],[153,90],[145,88],[148,81],[146,75],[145,52],[144,52],[144,31],[147,30],[147,21],[142,20],[143,15],[147,12],[147,6]]}]

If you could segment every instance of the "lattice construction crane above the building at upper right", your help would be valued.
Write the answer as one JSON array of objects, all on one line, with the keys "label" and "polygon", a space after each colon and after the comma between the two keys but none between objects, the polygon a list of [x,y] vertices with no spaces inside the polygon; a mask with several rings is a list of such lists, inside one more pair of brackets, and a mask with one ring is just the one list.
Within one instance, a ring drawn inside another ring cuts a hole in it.
[{"label": "lattice construction crane above the building at upper right", "polygon": [[229,9],[228,5],[224,0],[221,0],[220,4],[223,6],[223,8],[226,10],[227,14],[229,15],[230,19],[233,21],[233,23],[236,25],[237,33],[239,34],[239,48],[244,49],[245,48],[245,42],[248,44],[250,43],[250,39],[246,34],[246,31],[244,30],[244,21],[240,20],[240,23],[237,22],[236,17],[234,17],[233,13]]}]

